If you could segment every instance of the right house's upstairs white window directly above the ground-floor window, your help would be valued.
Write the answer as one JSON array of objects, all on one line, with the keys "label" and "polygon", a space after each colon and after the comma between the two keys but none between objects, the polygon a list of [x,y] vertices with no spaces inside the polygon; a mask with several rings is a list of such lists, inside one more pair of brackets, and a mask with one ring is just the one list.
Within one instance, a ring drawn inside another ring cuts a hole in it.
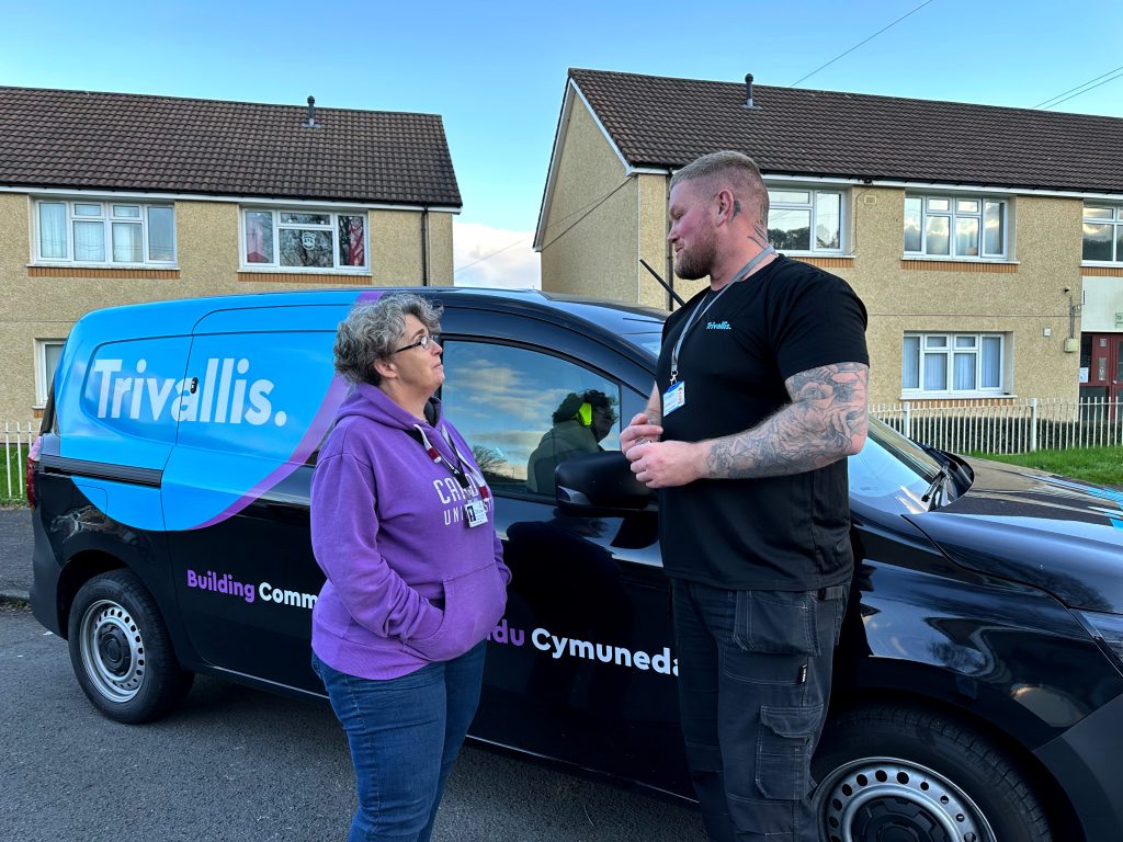
[{"label": "right house's upstairs white window directly above the ground-floor window", "polygon": [[1001,260],[1007,257],[1010,203],[985,195],[906,195],[907,256]]}]

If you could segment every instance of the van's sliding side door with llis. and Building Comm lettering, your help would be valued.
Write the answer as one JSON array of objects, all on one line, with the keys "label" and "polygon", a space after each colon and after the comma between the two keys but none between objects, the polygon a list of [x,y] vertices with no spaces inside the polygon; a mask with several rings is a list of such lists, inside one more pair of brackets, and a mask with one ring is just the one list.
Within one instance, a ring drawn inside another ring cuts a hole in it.
[{"label": "van's sliding side door with llis. and Building Comm lettering", "polygon": [[346,394],[334,375],[346,305],[240,308],[200,321],[188,377],[195,402],[164,472],[180,613],[212,670],[322,693],[311,615],[316,450]]}]

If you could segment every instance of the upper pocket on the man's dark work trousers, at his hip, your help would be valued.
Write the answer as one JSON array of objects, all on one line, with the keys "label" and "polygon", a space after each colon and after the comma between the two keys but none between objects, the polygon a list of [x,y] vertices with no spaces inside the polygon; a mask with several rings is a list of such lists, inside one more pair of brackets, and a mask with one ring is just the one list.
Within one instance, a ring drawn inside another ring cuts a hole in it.
[{"label": "upper pocket on the man's dark work trousers, at his hip", "polygon": [[746,652],[819,655],[814,596],[804,591],[738,591],[733,642]]}]

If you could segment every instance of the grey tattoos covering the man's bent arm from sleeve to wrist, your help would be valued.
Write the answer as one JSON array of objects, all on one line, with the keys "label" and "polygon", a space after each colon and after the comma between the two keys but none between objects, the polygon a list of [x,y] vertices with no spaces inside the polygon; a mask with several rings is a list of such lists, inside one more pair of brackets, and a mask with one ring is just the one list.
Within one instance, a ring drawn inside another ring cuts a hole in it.
[{"label": "grey tattoos covering the man's bent arm from sleeve to wrist", "polygon": [[751,430],[709,442],[715,479],[802,474],[856,454],[866,441],[869,367],[838,363],[785,381],[792,403]]}]

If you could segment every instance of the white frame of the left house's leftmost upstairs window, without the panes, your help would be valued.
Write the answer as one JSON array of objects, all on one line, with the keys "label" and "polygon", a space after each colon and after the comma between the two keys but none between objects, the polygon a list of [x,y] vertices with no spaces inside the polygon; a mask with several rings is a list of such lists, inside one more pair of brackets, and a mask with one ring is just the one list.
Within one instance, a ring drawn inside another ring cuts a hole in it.
[{"label": "white frame of the left house's leftmost upstairs window, without the panes", "polygon": [[[44,205],[62,204],[65,208],[65,236],[66,254],[64,257],[47,257],[43,249],[43,222],[42,208]],[[79,207],[98,207],[98,213],[80,213]],[[135,217],[116,213],[117,208],[136,208],[138,214]],[[171,211],[172,231],[172,256],[171,259],[162,260],[152,257],[150,241],[150,217],[153,209]],[[75,222],[95,222],[102,229],[102,259],[77,259],[75,257]],[[129,225],[140,228],[140,260],[115,260],[113,259],[113,226]],[[176,212],[174,201],[145,201],[141,198],[129,196],[74,196],[55,195],[37,196],[31,204],[31,260],[33,265],[51,266],[84,266],[97,268],[179,268],[179,232],[176,228]]]}]

